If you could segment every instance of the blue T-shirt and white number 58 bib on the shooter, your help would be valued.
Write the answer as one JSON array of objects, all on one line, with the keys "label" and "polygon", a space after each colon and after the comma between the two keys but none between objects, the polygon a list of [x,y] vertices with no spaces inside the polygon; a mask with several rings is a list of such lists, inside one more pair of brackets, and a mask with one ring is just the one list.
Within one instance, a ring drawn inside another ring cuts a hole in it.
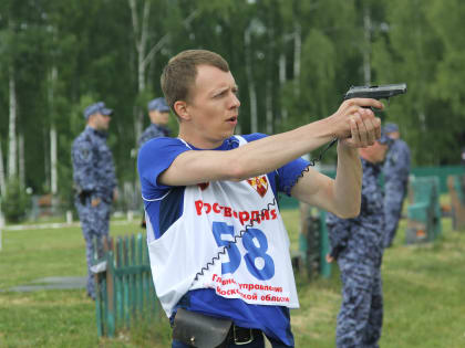
[{"label": "blue T-shirt and white number 58 bib on the shooter", "polygon": [[[231,137],[215,150],[264,136]],[[290,193],[308,162],[297,159],[239,182],[159,184],[158,176],[187,150],[200,149],[182,139],[156,138],[138,155],[152,274],[167,316],[182,306],[232,318],[293,346],[289,308],[299,303],[275,198],[278,190]]]}]

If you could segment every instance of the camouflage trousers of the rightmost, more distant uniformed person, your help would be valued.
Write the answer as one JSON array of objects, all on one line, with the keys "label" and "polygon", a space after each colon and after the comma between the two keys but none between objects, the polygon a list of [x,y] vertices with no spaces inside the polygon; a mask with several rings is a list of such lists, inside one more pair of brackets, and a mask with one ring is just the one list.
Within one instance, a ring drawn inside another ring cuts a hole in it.
[{"label": "camouflage trousers of the rightmost, more distant uniformed person", "polygon": [[402,204],[405,198],[405,186],[402,183],[389,183],[384,194],[384,247],[390,247],[397,232],[399,220],[402,214]]}]

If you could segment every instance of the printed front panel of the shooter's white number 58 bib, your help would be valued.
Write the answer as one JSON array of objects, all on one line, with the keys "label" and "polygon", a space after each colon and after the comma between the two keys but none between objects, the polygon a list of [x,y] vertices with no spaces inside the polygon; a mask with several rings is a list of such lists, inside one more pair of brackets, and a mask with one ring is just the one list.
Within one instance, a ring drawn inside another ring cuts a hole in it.
[{"label": "printed front panel of the shooter's white number 58 bib", "polygon": [[[250,304],[298,307],[289,240],[267,176],[217,184],[195,200],[195,214],[210,223],[216,252],[197,271],[190,289],[209,287]],[[234,191],[248,194],[236,198]]]}]

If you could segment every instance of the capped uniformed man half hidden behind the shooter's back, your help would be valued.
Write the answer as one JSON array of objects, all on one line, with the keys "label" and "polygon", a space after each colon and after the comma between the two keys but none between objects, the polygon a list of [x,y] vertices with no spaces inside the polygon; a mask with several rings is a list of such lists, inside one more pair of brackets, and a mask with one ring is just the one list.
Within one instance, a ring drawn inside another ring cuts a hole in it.
[{"label": "capped uniformed man half hidden behind the shooter's back", "polygon": [[148,102],[147,108],[151,125],[138,138],[138,147],[153,138],[169,137],[169,129],[166,128],[169,120],[169,106],[166,105],[165,98],[161,97]]}]

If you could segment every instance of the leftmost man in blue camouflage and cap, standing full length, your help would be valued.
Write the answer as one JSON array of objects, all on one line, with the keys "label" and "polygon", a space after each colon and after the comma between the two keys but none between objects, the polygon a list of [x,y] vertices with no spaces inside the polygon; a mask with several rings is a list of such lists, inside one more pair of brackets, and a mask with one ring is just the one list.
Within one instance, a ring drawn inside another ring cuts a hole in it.
[{"label": "leftmost man in blue camouflage and cap, standing full length", "polygon": [[116,198],[115,167],[106,145],[112,114],[103,102],[87,106],[84,110],[86,127],[74,139],[71,150],[75,207],[86,245],[87,295],[93,299],[95,285],[91,266],[95,251],[92,240],[96,238],[97,254],[101,255],[103,236],[108,234],[112,201]]}]

